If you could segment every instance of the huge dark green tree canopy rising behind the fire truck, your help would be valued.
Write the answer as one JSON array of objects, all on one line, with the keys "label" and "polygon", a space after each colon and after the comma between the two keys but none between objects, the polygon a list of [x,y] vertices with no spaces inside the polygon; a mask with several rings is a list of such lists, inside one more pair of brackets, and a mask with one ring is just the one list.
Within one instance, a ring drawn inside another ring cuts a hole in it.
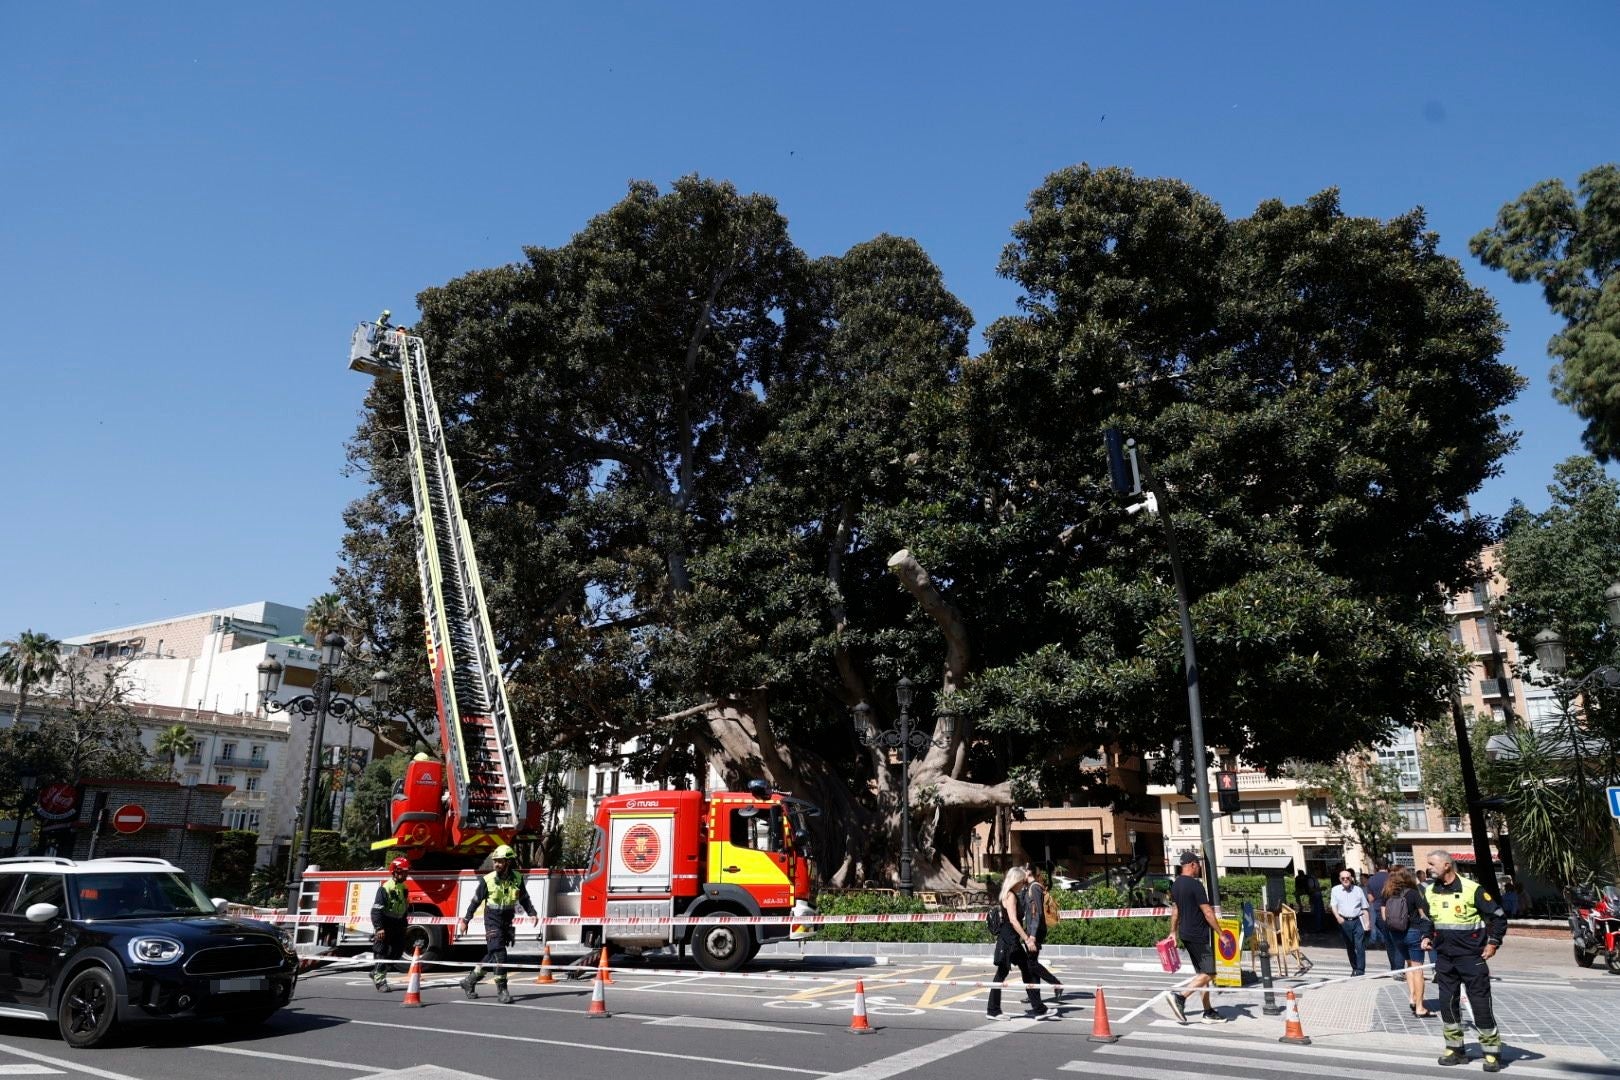
[{"label": "huge dark green tree canopy rising behind the fire truck", "polygon": [[[1106,424],[1174,492],[1212,742],[1280,766],[1414,722],[1518,389],[1421,214],[1324,193],[1230,220],[1079,167],[1001,269],[1021,314],[970,356],[915,241],[810,259],[771,199],[688,176],[421,293],[531,756],[629,743],[653,779],[766,776],[829,810],[825,873],[876,876],[897,790],[850,709],[891,725],[910,675],[936,740],[912,771],[919,879],[943,881],[1014,772],[1074,790],[1098,746],[1184,725],[1162,525],[1106,492]],[[376,384],[352,444],[373,487],[337,583],[424,674],[400,395]]]}]

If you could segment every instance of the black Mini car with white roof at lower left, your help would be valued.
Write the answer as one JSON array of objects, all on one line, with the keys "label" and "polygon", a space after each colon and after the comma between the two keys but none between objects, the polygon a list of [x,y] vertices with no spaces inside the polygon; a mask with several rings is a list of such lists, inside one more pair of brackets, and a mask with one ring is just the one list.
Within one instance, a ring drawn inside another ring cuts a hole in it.
[{"label": "black Mini car with white roof at lower left", "polygon": [[259,1025],[298,957],[222,907],[160,858],[0,858],[0,1017],[55,1020],[70,1046],[126,1020]]}]

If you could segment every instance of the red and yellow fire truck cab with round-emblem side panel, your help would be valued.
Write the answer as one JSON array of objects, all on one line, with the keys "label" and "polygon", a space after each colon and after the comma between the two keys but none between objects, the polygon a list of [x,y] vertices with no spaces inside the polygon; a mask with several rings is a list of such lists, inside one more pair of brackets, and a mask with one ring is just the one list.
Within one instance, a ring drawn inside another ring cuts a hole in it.
[{"label": "red and yellow fire truck cab with round-emblem side panel", "polygon": [[586,946],[690,944],[698,967],[734,972],[791,923],[625,925],[614,918],[813,915],[810,803],[755,780],[747,792],[643,792],[603,798],[580,882]]}]

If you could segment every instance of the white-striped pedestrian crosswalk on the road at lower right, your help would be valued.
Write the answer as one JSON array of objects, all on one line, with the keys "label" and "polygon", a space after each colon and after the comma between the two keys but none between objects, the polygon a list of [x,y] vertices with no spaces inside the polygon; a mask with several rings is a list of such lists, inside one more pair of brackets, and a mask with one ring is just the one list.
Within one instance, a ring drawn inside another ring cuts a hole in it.
[{"label": "white-striped pedestrian crosswalk on the road at lower right", "polygon": [[[1479,1061],[1479,1048],[1471,1048]],[[1440,1041],[1432,1048],[1413,1051],[1362,1049],[1359,1046],[1290,1046],[1246,1035],[1212,1031],[1131,1031],[1119,1043],[1097,1046],[1087,1057],[1059,1065],[1063,1072],[1103,1072],[1123,1080],[1163,1080],[1176,1074],[1209,1077],[1296,1077],[1302,1070],[1332,1075],[1333,1080],[1390,1080],[1392,1075],[1448,1075],[1435,1059]],[[1591,1080],[1594,1075],[1615,1075],[1610,1069],[1594,1074],[1586,1064],[1537,1062],[1526,1059],[1523,1051],[1508,1049],[1503,1062],[1515,1077],[1524,1080]],[[1474,1065],[1477,1069],[1477,1064]]]}]

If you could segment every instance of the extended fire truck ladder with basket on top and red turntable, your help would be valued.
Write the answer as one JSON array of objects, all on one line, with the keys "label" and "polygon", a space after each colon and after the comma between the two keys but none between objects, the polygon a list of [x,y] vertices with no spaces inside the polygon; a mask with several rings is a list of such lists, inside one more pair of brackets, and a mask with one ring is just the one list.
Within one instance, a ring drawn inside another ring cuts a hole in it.
[{"label": "extended fire truck ladder with basket on top and red turntable", "polygon": [[361,322],[348,366],[405,385],[416,568],[444,745],[442,767],[411,763],[394,798],[394,837],[374,847],[481,855],[509,844],[525,824],[526,779],[428,350],[420,337],[386,322]]}]

